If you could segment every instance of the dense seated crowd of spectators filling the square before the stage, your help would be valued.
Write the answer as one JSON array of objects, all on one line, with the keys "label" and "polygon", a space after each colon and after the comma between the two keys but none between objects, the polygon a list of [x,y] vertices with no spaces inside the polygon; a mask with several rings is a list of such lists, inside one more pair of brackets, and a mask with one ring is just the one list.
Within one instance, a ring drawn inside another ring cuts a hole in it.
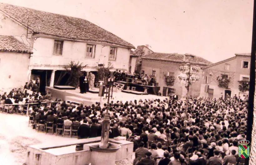
[{"label": "dense seated crowd of spectators filling the square before the stage", "polygon": [[[134,165],[242,165],[238,141],[247,131],[247,99],[189,98],[111,101],[100,105],[41,104],[45,95],[14,89],[1,102],[36,102],[30,115],[38,121],[76,124],[78,138],[101,136],[102,120],[108,112],[110,138],[123,136],[134,142]],[[185,117],[185,108],[187,117]],[[54,127],[54,131],[56,126]]]}]

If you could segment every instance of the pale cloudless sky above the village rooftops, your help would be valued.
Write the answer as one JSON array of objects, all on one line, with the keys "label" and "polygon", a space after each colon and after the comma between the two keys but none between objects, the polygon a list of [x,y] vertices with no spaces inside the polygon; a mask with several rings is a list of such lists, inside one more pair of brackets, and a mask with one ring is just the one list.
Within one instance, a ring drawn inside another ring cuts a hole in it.
[{"label": "pale cloudless sky above the village rooftops", "polygon": [[135,47],[218,62],[250,53],[253,0],[0,0],[86,19]]}]

